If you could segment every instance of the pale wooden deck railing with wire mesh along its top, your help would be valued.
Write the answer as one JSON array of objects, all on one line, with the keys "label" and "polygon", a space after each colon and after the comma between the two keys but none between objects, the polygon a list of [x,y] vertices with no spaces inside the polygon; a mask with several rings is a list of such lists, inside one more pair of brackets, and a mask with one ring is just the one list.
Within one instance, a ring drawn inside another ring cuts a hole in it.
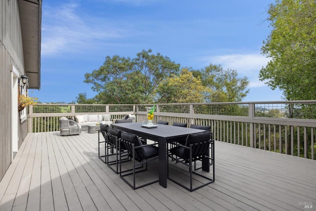
[{"label": "pale wooden deck railing with wire mesh along its top", "polygon": [[[154,122],[208,125],[218,141],[316,159],[316,100],[156,105]],[[38,104],[29,108],[29,132],[56,131],[60,117],[87,113],[142,122],[150,106]]]}]

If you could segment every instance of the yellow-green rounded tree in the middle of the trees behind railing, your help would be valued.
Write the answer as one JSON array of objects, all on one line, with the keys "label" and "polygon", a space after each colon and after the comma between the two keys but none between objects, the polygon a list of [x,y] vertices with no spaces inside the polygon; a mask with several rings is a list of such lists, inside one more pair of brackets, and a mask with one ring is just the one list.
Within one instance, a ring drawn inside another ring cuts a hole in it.
[{"label": "yellow-green rounded tree in the middle of the trees behind railing", "polygon": [[199,78],[183,68],[179,76],[174,75],[158,85],[159,103],[199,103],[205,102],[205,93],[210,89],[203,86]]}]

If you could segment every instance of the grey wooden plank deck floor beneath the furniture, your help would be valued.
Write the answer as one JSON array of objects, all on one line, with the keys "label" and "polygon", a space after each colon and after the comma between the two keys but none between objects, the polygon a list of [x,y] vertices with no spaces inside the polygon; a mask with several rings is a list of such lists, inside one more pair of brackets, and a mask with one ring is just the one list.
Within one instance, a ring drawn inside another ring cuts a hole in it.
[{"label": "grey wooden plank deck floor beneath the furniture", "polygon": [[315,160],[216,141],[214,183],[134,191],[98,158],[97,140],[29,133],[0,182],[0,210],[316,210]]}]

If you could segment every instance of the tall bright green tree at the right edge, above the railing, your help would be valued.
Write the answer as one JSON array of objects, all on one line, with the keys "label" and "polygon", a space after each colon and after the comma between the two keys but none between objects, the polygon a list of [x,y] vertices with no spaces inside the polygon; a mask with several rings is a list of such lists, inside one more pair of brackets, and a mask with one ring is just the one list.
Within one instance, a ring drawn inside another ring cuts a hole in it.
[{"label": "tall bright green tree at the right edge, above the railing", "polygon": [[283,90],[287,100],[315,99],[315,0],[276,0],[268,14],[273,30],[261,52],[271,61],[260,70],[260,80]]}]

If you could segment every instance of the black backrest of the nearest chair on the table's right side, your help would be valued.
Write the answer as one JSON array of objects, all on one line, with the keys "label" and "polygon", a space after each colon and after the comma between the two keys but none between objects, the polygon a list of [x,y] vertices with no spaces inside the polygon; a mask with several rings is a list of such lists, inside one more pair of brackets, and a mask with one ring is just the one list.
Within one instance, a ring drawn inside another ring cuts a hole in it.
[{"label": "black backrest of the nearest chair on the table's right side", "polygon": [[[191,144],[196,144],[192,146],[192,157],[205,155],[207,153],[209,149],[210,137],[211,137],[211,131],[209,130],[204,131],[204,132],[189,134],[187,136],[187,140],[185,144],[187,147],[190,147]],[[202,143],[202,142],[205,142],[205,143]]]}]

